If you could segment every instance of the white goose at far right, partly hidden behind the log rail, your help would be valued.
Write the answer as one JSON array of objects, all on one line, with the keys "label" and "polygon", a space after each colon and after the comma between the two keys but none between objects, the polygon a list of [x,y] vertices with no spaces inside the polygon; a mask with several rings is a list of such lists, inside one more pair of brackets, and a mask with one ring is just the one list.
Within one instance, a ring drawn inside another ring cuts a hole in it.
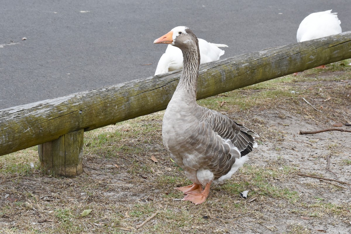
[{"label": "white goose at far right, partly hidden behind the log rail", "polygon": [[[313,40],[342,33],[338,13],[332,10],[315,12],[302,20],[296,33],[297,42]],[[316,68],[325,68],[325,65]],[[297,75],[297,72],[294,73]]]}]

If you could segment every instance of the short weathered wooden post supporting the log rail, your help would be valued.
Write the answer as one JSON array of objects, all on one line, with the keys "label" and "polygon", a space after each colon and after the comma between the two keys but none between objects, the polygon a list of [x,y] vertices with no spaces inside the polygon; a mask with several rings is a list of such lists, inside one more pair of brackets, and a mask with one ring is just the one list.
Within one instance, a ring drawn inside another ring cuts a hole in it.
[{"label": "short weathered wooden post supporting the log rail", "polygon": [[38,145],[41,168],[48,175],[76,176],[82,173],[84,130]]}]

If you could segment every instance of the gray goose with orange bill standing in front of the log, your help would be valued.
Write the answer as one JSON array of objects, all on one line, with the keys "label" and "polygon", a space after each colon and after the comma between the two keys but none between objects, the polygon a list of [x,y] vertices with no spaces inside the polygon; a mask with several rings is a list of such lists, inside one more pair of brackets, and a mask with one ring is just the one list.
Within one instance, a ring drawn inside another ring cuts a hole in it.
[{"label": "gray goose with orange bill standing in front of the log", "polygon": [[183,71],[163,117],[162,137],[171,158],[193,182],[177,188],[186,194],[182,200],[201,204],[211,183],[230,178],[244,164],[246,154],[257,147],[254,138],[258,135],[197,104],[200,53],[198,39],[189,28],[175,27],[154,43],[171,44],[183,52]]}]

